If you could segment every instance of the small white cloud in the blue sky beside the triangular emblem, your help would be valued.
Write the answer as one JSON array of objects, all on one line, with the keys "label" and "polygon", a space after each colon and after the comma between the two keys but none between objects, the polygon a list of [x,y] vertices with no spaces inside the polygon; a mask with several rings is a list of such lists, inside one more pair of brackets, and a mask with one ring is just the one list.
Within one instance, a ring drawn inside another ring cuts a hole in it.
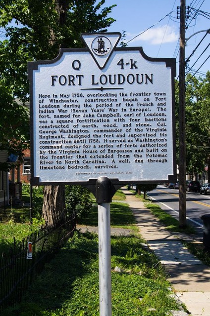
[{"label": "small white cloud in the blue sky beside the triangular emblem", "polygon": [[[139,32],[139,34],[142,32]],[[133,39],[136,35],[127,34],[126,39],[129,41]],[[175,27],[168,25],[162,25],[157,28],[151,28],[147,30],[140,36],[137,36],[132,42],[136,41],[148,41],[152,45],[157,45],[161,43],[172,43],[179,39],[179,34]]]}]

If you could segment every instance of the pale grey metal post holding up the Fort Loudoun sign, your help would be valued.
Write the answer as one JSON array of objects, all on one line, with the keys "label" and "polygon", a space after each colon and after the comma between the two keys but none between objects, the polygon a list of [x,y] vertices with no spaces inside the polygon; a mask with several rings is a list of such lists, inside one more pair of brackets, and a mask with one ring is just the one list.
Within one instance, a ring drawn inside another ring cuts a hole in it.
[{"label": "pale grey metal post holding up the Fort Loudoun sign", "polygon": [[111,316],[110,203],[98,204],[100,316]]}]

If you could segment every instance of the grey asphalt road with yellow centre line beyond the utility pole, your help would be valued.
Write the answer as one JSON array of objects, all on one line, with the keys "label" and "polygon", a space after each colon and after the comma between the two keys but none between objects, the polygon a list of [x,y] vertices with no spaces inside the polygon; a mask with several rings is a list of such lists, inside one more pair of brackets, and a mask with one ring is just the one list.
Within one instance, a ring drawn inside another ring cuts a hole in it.
[{"label": "grey asphalt road with yellow centre line beyond the utility pole", "polygon": [[[179,219],[179,192],[175,189],[168,189],[164,186],[157,186],[156,190],[148,192],[148,195],[155,200],[161,209]],[[210,214],[210,195],[186,192],[186,214],[187,221],[195,226],[198,238],[203,238],[202,215]]]}]

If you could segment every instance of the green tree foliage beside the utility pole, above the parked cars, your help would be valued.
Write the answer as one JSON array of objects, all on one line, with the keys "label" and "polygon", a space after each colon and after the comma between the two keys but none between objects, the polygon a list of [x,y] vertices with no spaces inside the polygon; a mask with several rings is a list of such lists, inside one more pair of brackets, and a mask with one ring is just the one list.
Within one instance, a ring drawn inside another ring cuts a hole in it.
[{"label": "green tree foliage beside the utility pole, above the parked cars", "polygon": [[188,75],[186,82],[186,172],[197,175],[208,165],[210,181],[210,72],[199,79]]}]

